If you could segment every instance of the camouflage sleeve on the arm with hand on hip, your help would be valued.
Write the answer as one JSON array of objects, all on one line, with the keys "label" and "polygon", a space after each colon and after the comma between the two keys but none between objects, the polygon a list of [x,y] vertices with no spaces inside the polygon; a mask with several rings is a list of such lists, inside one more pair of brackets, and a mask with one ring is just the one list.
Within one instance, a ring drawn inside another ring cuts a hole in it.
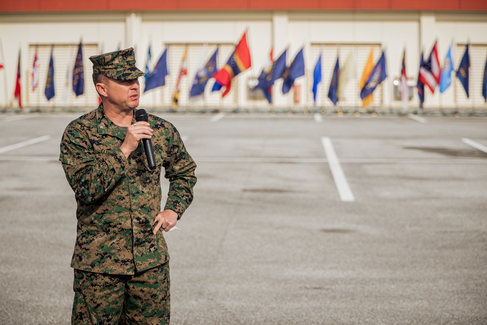
[{"label": "camouflage sleeve on the arm with hand on hip", "polygon": [[165,209],[175,211],[180,219],[193,201],[196,163],[187,153],[179,132],[174,126],[171,125],[171,127],[173,130],[172,144],[169,146],[168,156],[163,163],[166,169],[164,177],[169,179],[168,200]]}]

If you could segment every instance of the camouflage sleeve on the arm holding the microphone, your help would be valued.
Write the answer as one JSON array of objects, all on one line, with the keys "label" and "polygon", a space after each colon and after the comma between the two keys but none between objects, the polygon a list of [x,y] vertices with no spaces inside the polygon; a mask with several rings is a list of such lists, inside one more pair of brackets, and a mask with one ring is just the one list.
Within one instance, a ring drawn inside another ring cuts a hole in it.
[{"label": "camouflage sleeve on the arm holding the microphone", "polygon": [[64,131],[59,160],[78,200],[93,203],[110,191],[130,168],[118,145],[94,151],[87,132],[70,125]]}]

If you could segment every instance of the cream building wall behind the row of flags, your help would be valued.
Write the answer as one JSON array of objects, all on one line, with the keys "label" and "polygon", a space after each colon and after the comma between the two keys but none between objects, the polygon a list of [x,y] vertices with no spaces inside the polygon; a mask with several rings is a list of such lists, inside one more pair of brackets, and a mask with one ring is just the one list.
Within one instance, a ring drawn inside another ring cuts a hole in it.
[{"label": "cream building wall behind the row of flags", "polygon": [[[35,3],[40,2],[43,1],[35,1]],[[391,1],[386,2],[389,3]],[[461,1],[453,2],[457,4],[467,3]],[[209,1],[210,7],[211,3],[214,2]],[[264,1],[262,3],[270,2]],[[286,1],[282,3],[286,3]],[[354,1],[354,3],[358,5],[360,1]],[[395,2],[392,1],[391,3]],[[450,2],[447,1],[445,3],[448,5]],[[257,4],[254,5],[257,6]],[[77,43],[82,40],[83,43],[97,46],[99,53],[113,51],[118,47],[134,47],[137,66],[142,70],[145,67],[149,44],[151,44],[152,66],[155,65],[164,48],[170,44],[170,48],[175,51],[171,57],[171,62],[169,62],[171,67],[170,82],[168,81],[163,88],[143,94],[141,98],[141,106],[144,107],[169,107],[171,94],[174,89],[174,80],[179,72],[180,53],[182,53],[185,44],[188,44],[191,48],[189,52],[191,54],[188,53],[188,56],[191,55],[191,57],[188,57],[188,61],[192,63],[188,66],[188,75],[184,77],[186,80],[182,87],[188,89],[196,72],[200,59],[199,52],[201,52],[200,49],[203,48],[203,44],[211,44],[208,46],[206,57],[211,55],[216,44],[221,44],[219,57],[219,67],[221,67],[231,52],[231,44],[236,43],[245,30],[248,30],[252,67],[234,79],[233,86],[235,88],[234,93],[230,94],[231,97],[225,97],[222,100],[218,94],[208,93],[205,102],[202,100],[181,100],[181,104],[185,104],[188,107],[214,105],[226,109],[235,107],[271,108],[265,100],[250,100],[247,96],[248,84],[252,78],[259,76],[271,46],[274,48],[275,58],[278,57],[284,48],[288,47],[288,63],[304,46],[307,73],[307,76],[296,80],[296,84],[300,86],[298,90],[300,95],[299,102],[295,102],[295,96],[292,92],[288,95],[282,95],[281,81],[276,82],[273,89],[274,108],[290,106],[313,107],[312,97],[310,97],[312,79],[310,79],[309,75],[312,73],[318,57],[316,49],[320,47],[325,47],[328,51],[326,60],[323,59],[323,62],[326,61],[327,63],[322,63],[323,78],[319,90],[322,93],[328,91],[331,71],[333,70],[332,62],[335,62],[337,56],[337,51],[333,50],[335,47],[340,45],[340,62],[345,61],[350,51],[349,48],[363,48],[369,44],[376,44],[384,49],[387,57],[388,78],[381,86],[380,102],[375,102],[375,105],[386,108],[399,108],[401,106],[399,100],[394,100],[393,80],[400,74],[404,48],[406,48],[407,74],[413,81],[417,79],[421,51],[423,50],[425,57],[427,57],[435,40],[438,41],[439,57],[442,64],[448,46],[452,41],[456,47],[459,47],[459,50],[454,51],[456,55],[454,57],[455,67],[458,66],[463,54],[461,48],[468,41],[472,44],[472,48],[473,45],[476,46],[480,56],[482,51],[485,50],[484,58],[487,57],[487,34],[485,33],[487,30],[487,13],[484,11],[204,10],[197,12],[175,10],[170,12],[4,13],[0,14],[0,38],[5,62],[5,68],[0,71],[0,106],[8,106],[12,102],[19,49],[21,50],[24,103],[28,103],[30,106],[53,106],[52,102],[48,103],[43,98],[49,60],[48,51],[43,52],[44,57],[39,57],[41,73],[39,87],[36,92],[40,91],[41,95],[36,94],[33,96],[27,92],[31,87],[29,82],[31,82],[33,45],[70,45],[75,48]],[[58,56],[67,57],[66,53],[59,52]],[[374,61],[379,56],[380,51],[377,50]],[[93,87],[91,82],[91,64],[87,57],[85,61],[87,62],[85,64],[85,87]],[[476,66],[472,66],[471,69],[472,73],[477,76],[483,72],[484,63],[481,61],[482,59],[478,59]],[[56,70],[61,73],[66,68],[59,66]],[[362,70],[362,64],[356,61],[357,78],[361,75]],[[61,73],[61,77],[62,75]],[[143,78],[141,78],[140,82],[143,88]],[[208,83],[207,87],[211,86],[212,81]],[[458,92],[462,91],[462,89],[457,88],[452,85],[442,96],[438,94],[438,89],[435,94],[431,94],[426,90],[425,108],[458,107],[458,102],[461,102],[462,105],[459,108],[486,108],[486,105],[481,100],[480,93],[476,95],[477,97],[474,97],[475,102],[471,99],[466,102],[458,99]],[[60,93],[62,93],[62,89],[56,89],[56,96]],[[97,104],[97,97],[93,92],[90,98],[81,97],[71,100],[68,106],[94,106]],[[352,102],[356,102],[359,105],[357,99]],[[329,107],[331,102],[325,95],[318,104]],[[418,107],[418,104],[418,98],[414,91],[410,107]],[[59,102],[54,106],[58,105],[62,106]]]}]

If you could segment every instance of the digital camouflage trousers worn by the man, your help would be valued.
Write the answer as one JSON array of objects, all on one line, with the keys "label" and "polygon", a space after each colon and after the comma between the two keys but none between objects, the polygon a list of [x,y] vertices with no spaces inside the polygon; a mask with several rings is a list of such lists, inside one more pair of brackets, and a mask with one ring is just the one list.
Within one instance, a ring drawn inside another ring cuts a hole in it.
[{"label": "digital camouflage trousers worn by the man", "polygon": [[75,269],[73,325],[169,324],[169,262],[134,275]]}]

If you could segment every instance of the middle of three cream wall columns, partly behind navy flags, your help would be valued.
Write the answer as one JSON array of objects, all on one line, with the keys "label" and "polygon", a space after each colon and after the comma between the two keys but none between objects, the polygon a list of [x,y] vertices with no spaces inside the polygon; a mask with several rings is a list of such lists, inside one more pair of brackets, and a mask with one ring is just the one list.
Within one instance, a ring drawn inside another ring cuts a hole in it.
[{"label": "middle of three cream wall columns, partly behind navy flags", "polygon": [[[287,13],[276,12],[272,16],[272,43],[274,44],[274,59],[281,55],[281,52],[288,46],[288,25],[289,16]],[[287,52],[288,61],[292,54]],[[282,79],[274,83],[272,89],[272,100],[275,107],[287,106],[287,96],[282,95]]]}]

